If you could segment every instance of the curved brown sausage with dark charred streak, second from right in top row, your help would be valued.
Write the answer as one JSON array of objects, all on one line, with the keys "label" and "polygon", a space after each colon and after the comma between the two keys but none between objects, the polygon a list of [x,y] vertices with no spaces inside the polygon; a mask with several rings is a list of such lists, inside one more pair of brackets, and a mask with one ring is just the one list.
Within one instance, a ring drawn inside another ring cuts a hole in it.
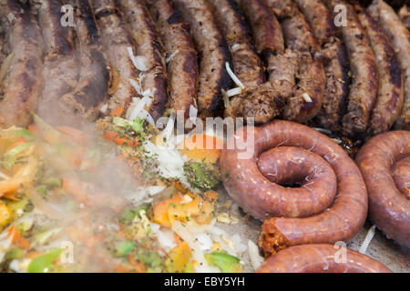
[{"label": "curved brown sausage with dark charred streak, second from right in top row", "polygon": [[370,39],[377,62],[379,85],[377,99],[370,116],[368,133],[378,135],[388,131],[400,115],[404,100],[404,79],[395,56],[395,49],[374,19],[355,5],[359,20]]}]

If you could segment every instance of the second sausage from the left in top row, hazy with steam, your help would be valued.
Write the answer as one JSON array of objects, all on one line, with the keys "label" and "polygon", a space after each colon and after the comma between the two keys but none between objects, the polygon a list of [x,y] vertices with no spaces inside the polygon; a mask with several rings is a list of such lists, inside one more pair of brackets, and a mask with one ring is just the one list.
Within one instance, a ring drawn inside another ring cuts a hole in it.
[{"label": "second sausage from the left in top row, hazy with steam", "polygon": [[[37,114],[51,123],[63,121],[64,115],[58,108],[60,97],[73,90],[78,78],[75,55],[75,35],[69,26],[60,24],[62,2],[44,0],[38,9],[39,24],[45,44],[44,89]],[[54,108],[55,110],[50,110]]]}]

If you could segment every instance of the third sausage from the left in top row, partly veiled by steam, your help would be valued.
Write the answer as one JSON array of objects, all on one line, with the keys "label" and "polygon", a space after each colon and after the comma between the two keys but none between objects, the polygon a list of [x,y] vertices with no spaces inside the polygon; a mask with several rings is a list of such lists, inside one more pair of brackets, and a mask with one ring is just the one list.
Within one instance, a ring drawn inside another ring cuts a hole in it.
[{"label": "third sausage from the left in top row, partly veiled by steam", "polygon": [[[107,100],[108,69],[101,53],[99,32],[87,0],[77,0],[77,47],[81,65],[74,90],[61,97],[60,110],[81,121],[94,121]],[[72,118],[70,118],[72,120]]]}]

